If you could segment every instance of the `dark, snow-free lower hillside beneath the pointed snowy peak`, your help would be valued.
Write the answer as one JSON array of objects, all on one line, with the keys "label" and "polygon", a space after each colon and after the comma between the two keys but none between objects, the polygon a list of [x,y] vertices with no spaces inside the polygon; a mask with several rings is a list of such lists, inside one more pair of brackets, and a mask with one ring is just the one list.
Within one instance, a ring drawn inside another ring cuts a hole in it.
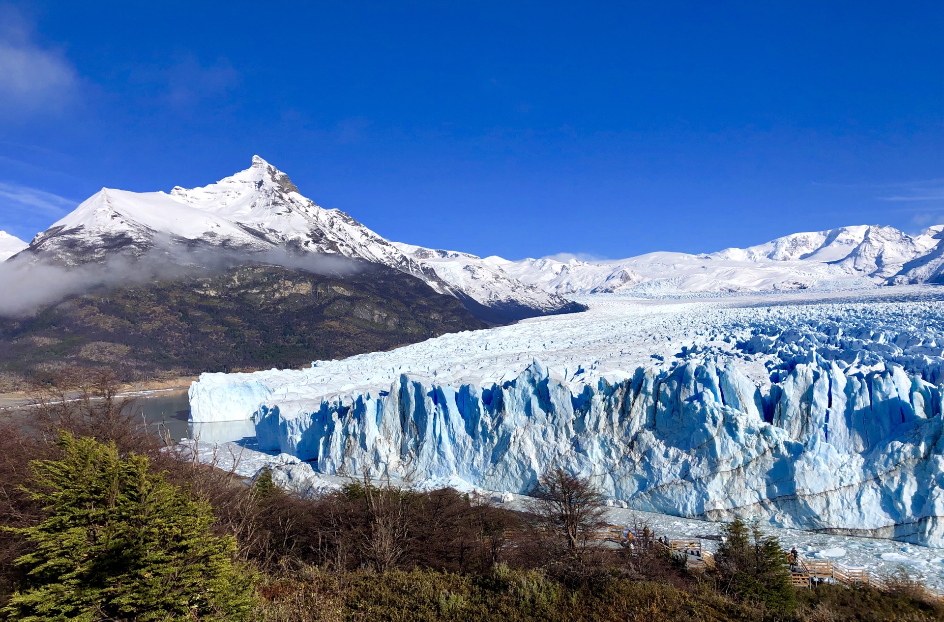
[{"label": "dark, snow-free lower hillside beneath the pointed snowy peak", "polygon": [[339,278],[244,265],[5,319],[0,384],[63,366],[109,366],[124,380],[297,367],[484,326],[459,300],[390,268]]}]

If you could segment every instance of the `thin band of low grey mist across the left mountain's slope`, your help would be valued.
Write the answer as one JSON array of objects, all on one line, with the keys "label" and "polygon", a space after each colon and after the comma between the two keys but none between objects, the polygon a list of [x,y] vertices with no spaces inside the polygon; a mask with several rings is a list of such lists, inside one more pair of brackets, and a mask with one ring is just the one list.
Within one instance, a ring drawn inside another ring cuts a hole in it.
[{"label": "thin band of low grey mist across the left mountain's slope", "polygon": [[292,255],[274,249],[256,253],[226,249],[153,249],[142,257],[112,256],[100,263],[65,266],[21,253],[0,262],[0,316],[23,318],[63,298],[102,288],[120,288],[158,280],[211,277],[245,263],[266,263],[326,277],[346,277],[357,261],[341,256]]}]

